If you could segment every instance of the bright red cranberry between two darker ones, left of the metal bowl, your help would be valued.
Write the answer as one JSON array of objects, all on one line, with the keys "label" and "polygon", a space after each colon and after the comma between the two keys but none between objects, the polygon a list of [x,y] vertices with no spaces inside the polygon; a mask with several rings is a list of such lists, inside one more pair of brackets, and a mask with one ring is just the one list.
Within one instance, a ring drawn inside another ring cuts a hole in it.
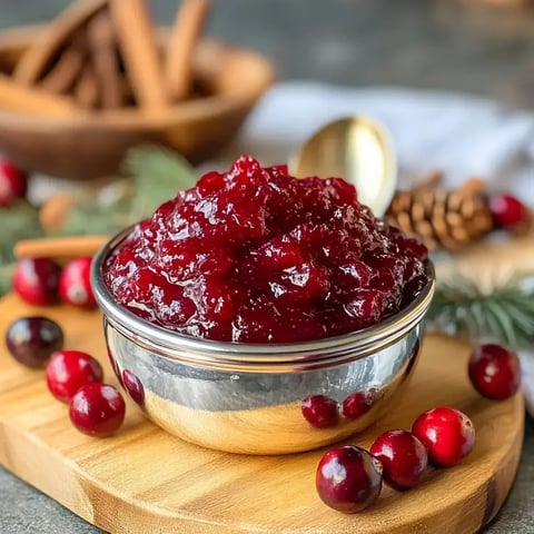
[{"label": "bright red cranberry between two darker ones, left of the metal bowl", "polygon": [[79,350],[58,350],[47,365],[48,388],[62,403],[69,403],[81,386],[102,379],[101,365]]}]

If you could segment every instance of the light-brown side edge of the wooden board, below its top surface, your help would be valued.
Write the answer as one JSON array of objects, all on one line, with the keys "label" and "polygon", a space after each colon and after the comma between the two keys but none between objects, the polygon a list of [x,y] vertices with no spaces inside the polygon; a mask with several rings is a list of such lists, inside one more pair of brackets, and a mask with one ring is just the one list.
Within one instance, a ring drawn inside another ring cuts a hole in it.
[{"label": "light-brown side edge of the wooden board, below its top surface", "polygon": [[[484,514],[482,517],[479,514],[476,514],[478,515],[477,518],[469,517],[478,506],[471,502],[465,502],[463,506],[466,522],[471,524],[479,522],[481,528],[487,526],[500,512],[517,473],[524,434],[523,397],[518,395],[514,399],[514,404],[515,415],[521,416],[522,423],[516,427],[510,451],[503,454],[500,468],[494,472],[485,484],[486,487],[483,491],[486,495]],[[154,427],[154,432],[159,432],[159,429]],[[9,433],[9,439],[7,438],[7,433]],[[142,438],[142,436],[139,437]],[[106,532],[112,532],[113,534],[134,532],[144,534],[162,534],[168,532],[172,534],[189,534],[192,526],[196,534],[236,533],[236,526],[238,525],[235,523],[225,524],[211,521],[208,517],[202,523],[199,522],[198,515],[189,516],[185,511],[176,513],[169,510],[168,514],[164,514],[164,510],[159,506],[150,506],[148,503],[137,500],[127,501],[123,495],[115,494],[110,491],[110,487],[103,487],[98,481],[88,477],[76,462],[66,462],[65,456],[60,453],[53,451],[30,433],[20,432],[14,425],[10,425],[8,421],[0,422],[0,464],[3,467],[76,515]],[[23,451],[29,449],[33,452],[31,457],[23,454]],[[42,469],[42,465],[47,465],[47,468]],[[43,473],[47,473],[48,476],[43,477]],[[99,502],[103,493],[110,498],[107,503]],[[453,508],[455,506],[456,504],[452,505]],[[113,511],[123,515],[123,517],[121,518]],[[453,511],[451,513],[453,514]],[[456,514],[457,511],[453,515]],[[439,511],[439,515],[443,516],[443,510]],[[428,531],[428,525],[434,521],[438,521],[437,517],[434,517],[434,513],[423,514],[413,523],[413,532],[415,534],[417,532],[432,532]],[[131,531],[126,526],[132,524],[136,525],[136,531]],[[247,533],[269,533],[266,528],[253,526],[246,522],[240,525],[239,530]],[[287,531],[287,534],[293,534],[293,532],[296,531],[290,528]],[[301,531],[298,532],[300,533]],[[357,533],[358,531],[354,530],[352,532]],[[402,532],[405,531],[403,530]],[[345,533],[340,532],[339,534]],[[394,534],[394,531],[390,531],[388,534]]]}]

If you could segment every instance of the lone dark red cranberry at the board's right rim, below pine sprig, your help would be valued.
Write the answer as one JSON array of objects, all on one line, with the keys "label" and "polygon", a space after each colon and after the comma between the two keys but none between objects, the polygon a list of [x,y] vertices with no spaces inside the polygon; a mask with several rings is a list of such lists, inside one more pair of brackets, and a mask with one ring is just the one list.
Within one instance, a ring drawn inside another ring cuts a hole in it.
[{"label": "lone dark red cranberry at the board's right rim, below pine sprig", "polygon": [[481,395],[503,400],[520,388],[520,358],[501,345],[481,345],[471,355],[469,378]]}]

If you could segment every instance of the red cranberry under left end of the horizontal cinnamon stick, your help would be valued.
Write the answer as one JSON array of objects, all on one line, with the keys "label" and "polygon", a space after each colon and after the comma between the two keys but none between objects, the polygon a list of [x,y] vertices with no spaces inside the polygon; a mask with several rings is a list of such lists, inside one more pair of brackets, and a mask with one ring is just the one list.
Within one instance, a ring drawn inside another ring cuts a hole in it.
[{"label": "red cranberry under left end of the horizontal cinnamon stick", "polygon": [[33,306],[53,304],[59,298],[61,267],[48,258],[23,258],[14,269],[13,289]]}]

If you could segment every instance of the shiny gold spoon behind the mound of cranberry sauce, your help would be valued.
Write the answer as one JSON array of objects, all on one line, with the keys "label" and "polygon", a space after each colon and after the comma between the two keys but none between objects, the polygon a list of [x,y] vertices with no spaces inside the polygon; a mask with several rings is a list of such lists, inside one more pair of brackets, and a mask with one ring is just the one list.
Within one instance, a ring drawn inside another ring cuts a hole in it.
[{"label": "shiny gold spoon behind the mound of cranberry sauce", "polygon": [[317,130],[293,158],[289,170],[303,178],[345,178],[376,217],[385,215],[397,186],[397,159],[389,134],[358,115]]}]

